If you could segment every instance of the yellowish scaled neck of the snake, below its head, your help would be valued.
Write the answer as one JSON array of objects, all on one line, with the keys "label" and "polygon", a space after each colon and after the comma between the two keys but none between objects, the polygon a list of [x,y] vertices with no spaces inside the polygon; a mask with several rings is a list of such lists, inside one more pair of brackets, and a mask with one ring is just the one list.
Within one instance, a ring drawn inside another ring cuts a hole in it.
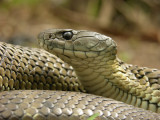
[{"label": "yellowish scaled neck of the snake, below its head", "polygon": [[121,61],[116,55],[106,56],[70,60],[84,88],[89,93],[123,102],[126,102],[128,96],[137,99],[140,94],[136,91],[138,89],[136,78],[131,78],[134,76],[133,73],[127,72],[121,67]]}]

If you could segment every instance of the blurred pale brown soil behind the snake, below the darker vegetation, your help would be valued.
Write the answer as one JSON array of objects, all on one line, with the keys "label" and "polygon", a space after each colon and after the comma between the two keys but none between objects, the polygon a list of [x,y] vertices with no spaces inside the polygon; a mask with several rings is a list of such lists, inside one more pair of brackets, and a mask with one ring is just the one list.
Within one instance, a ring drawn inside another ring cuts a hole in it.
[{"label": "blurred pale brown soil behind the snake, below the darker vegetation", "polygon": [[[41,11],[41,12],[39,12]],[[69,23],[54,16],[42,6],[36,10],[24,7],[0,10],[0,41],[38,47],[36,36],[49,28],[72,28],[99,31],[83,25]],[[107,35],[107,34],[106,34]],[[110,34],[109,34],[110,36]],[[122,38],[111,36],[118,45],[118,56],[123,61],[139,66],[160,69],[160,44],[152,40],[141,40],[134,36]]]}]

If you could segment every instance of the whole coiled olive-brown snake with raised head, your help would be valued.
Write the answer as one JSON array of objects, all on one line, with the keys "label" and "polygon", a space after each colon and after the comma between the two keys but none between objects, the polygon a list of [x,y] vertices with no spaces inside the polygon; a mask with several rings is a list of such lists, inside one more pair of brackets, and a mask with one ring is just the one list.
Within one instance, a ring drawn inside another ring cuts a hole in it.
[{"label": "whole coiled olive-brown snake with raised head", "polygon": [[0,42],[0,120],[160,120],[160,70],[124,63],[112,38],[49,29],[38,43]]}]

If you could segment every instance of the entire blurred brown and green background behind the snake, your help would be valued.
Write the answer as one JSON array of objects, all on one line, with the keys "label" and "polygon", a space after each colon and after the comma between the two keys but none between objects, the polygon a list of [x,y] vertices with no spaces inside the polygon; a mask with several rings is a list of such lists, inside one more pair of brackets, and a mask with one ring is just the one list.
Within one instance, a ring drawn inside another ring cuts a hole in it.
[{"label": "entire blurred brown and green background behind the snake", "polygon": [[38,47],[49,28],[100,32],[123,61],[160,69],[160,0],[0,0],[0,41]]}]

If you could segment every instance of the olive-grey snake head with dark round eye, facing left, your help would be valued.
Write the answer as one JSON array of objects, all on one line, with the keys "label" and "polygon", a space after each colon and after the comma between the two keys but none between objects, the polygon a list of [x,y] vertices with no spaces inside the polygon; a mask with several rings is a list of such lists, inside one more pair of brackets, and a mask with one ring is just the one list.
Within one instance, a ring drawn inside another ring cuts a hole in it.
[{"label": "olive-grey snake head with dark round eye, facing left", "polygon": [[49,29],[41,32],[38,40],[42,48],[61,59],[83,60],[117,52],[116,43],[110,37],[85,30]]}]

